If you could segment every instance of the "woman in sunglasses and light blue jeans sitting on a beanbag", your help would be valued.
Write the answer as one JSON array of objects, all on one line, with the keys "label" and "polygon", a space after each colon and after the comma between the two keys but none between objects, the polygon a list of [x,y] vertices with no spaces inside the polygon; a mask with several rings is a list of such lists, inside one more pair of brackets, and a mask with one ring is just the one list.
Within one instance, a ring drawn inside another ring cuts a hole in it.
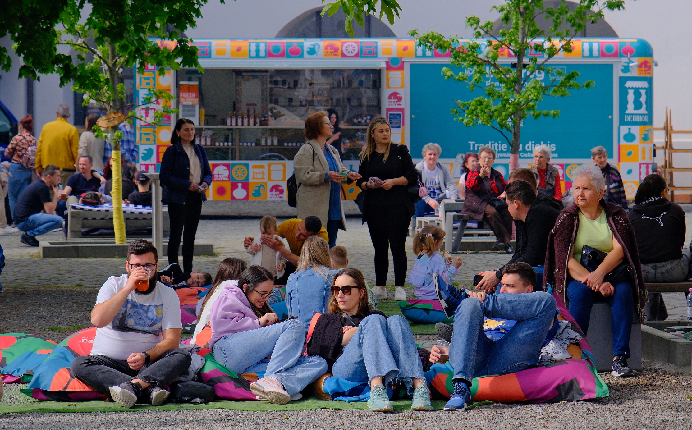
[{"label": "woman in sunglasses and light blue jeans sitting on a beanbag", "polygon": [[387,318],[370,308],[367,285],[358,269],[341,269],[332,284],[329,314],[316,321],[308,354],[324,358],[336,377],[370,382],[371,411],[394,411],[385,384],[395,379],[413,395],[411,409],[432,411],[423,364],[406,319]]}]

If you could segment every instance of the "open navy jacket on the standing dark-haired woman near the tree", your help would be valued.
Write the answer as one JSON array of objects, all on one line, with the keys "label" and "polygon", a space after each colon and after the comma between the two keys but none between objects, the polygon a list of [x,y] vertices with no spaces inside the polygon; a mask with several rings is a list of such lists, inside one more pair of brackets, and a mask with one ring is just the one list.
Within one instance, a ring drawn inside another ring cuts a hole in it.
[{"label": "open navy jacket on the standing dark-haired woman near the tree", "polygon": [[[201,166],[201,181],[208,186],[212,185],[212,169],[209,167],[207,152],[202,145],[194,145],[194,153],[199,158]],[[171,145],[166,148],[161,159],[161,170],[159,178],[163,187],[163,203],[185,204],[188,198],[188,187],[190,186],[190,159],[183,149],[182,143]],[[199,184],[198,184],[199,185]],[[206,201],[207,196],[202,193],[202,201]]]}]

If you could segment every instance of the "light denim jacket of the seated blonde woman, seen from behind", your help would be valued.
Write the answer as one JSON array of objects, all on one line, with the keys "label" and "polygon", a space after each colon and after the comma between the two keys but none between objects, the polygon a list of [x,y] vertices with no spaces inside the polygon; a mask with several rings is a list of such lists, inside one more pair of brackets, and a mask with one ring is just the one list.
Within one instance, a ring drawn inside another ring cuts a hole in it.
[{"label": "light denim jacket of the seated blonde woman, seen from behind", "polygon": [[[322,267],[323,271],[336,275],[338,270]],[[298,316],[307,328],[313,313],[326,314],[327,303],[331,298],[331,276],[329,280],[312,268],[291,274],[286,282],[286,307],[289,316]]]}]

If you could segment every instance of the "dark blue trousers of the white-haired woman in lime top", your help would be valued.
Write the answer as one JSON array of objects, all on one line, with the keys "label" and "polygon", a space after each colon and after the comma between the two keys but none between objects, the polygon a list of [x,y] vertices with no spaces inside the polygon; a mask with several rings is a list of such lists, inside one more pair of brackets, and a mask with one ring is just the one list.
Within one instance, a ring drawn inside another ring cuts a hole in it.
[{"label": "dark blue trousers of the white-haired woman in lime top", "polygon": [[[615,283],[615,294],[603,297],[603,294],[594,292],[588,285],[572,280],[567,285],[567,297],[570,299],[570,314],[579,324],[581,330],[587,335],[591,319],[591,306],[597,302],[605,302],[610,305],[612,325],[612,355],[630,357],[630,332],[632,332],[632,310],[634,298],[632,298],[632,285],[628,282]],[[587,336],[588,337],[588,336]]]}]

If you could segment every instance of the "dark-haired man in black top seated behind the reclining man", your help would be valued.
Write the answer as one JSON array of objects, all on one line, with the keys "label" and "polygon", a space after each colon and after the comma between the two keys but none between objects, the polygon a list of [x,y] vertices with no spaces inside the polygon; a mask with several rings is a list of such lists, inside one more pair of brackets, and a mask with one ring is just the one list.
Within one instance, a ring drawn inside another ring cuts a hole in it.
[{"label": "dark-haired man in black top seated behind the reclining man", "polygon": [[[536,197],[535,180],[533,186],[522,179],[511,178],[510,181],[505,192],[509,213],[516,224],[517,249],[507,264],[525,262],[534,267],[540,278],[543,276],[548,233],[560,215],[560,205],[556,199]],[[495,289],[500,283],[502,267],[480,275],[483,275],[483,280],[478,283],[478,288],[485,291]]]}]

